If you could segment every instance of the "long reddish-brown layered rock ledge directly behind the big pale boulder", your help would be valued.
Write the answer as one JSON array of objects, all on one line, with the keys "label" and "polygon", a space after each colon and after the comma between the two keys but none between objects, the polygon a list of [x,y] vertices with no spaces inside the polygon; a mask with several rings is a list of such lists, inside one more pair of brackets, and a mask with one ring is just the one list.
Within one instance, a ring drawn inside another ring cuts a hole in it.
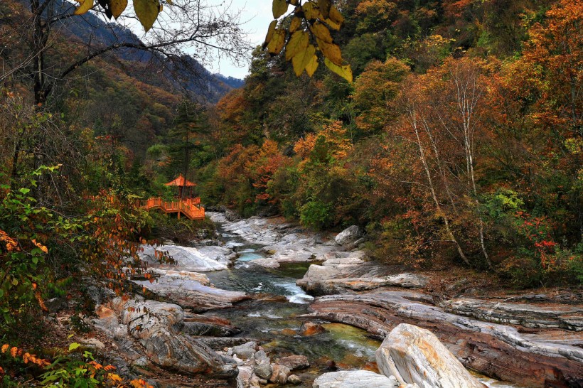
[{"label": "long reddish-brown layered rock ledge directly behind the big pale boulder", "polygon": [[310,309],[310,318],[354,325],[379,338],[385,338],[399,323],[427,328],[465,367],[498,379],[528,387],[583,384],[580,332],[525,333],[511,325],[448,313],[434,305],[432,296],[415,291],[323,296]]}]

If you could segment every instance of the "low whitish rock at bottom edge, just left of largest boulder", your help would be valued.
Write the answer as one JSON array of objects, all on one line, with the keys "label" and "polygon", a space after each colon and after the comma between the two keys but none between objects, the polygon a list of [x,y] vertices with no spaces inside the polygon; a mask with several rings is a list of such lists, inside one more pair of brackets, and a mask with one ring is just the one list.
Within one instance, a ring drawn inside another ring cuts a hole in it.
[{"label": "low whitish rock at bottom edge, just left of largest boulder", "polygon": [[313,388],[397,388],[399,383],[368,370],[343,370],[319,376]]}]

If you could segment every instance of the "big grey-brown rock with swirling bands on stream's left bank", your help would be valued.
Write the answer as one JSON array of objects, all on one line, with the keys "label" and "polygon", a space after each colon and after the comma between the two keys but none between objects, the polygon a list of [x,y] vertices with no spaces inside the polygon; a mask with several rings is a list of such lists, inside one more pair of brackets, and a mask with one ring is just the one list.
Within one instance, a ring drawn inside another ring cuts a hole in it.
[{"label": "big grey-brown rock with swirling bands on stream's left bank", "polygon": [[180,306],[122,298],[112,301],[112,306],[119,311],[128,333],[159,367],[187,374],[204,372],[221,378],[237,376],[236,365],[225,363],[220,355],[190,335],[179,335],[184,318]]}]

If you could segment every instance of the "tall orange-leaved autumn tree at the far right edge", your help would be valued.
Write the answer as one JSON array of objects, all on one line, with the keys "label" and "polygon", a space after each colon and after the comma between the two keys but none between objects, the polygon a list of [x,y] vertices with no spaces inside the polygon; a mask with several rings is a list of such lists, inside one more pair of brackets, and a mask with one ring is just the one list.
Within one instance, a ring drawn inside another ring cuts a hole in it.
[{"label": "tall orange-leaved autumn tree at the far right edge", "polygon": [[505,145],[492,150],[501,176],[569,244],[583,236],[581,5],[558,1],[534,23],[523,56],[501,64],[489,96],[496,141]]}]

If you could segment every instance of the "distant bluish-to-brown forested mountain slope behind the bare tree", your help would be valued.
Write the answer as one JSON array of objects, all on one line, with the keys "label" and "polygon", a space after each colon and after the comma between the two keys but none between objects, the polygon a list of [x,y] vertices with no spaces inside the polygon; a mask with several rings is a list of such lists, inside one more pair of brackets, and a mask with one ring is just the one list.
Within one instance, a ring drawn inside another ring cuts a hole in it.
[{"label": "distant bluish-to-brown forested mountain slope behind the bare tree", "polygon": [[[31,55],[31,41],[17,34],[18,29],[31,27],[31,14],[26,1],[3,1],[0,7],[1,55],[7,75],[11,75],[3,76],[3,81],[7,87],[23,91],[25,72],[11,73],[9,69],[17,68]],[[51,11],[60,16],[74,9],[73,4],[59,0]],[[70,65],[68,58],[80,59],[119,43],[141,44],[129,28],[106,23],[95,14],[86,14],[82,20],[55,20],[51,34],[46,53],[50,67],[46,71],[55,78]],[[212,104],[241,85],[237,80],[211,74],[195,58],[181,53],[180,58],[169,58],[127,47],[105,54],[80,65],[73,77],[58,82],[51,90],[49,104],[66,113],[63,118],[68,124],[91,129],[95,136],[112,136],[131,153],[129,162],[134,157],[142,160],[149,145],[164,139],[173,127],[174,111],[181,101]]]}]

